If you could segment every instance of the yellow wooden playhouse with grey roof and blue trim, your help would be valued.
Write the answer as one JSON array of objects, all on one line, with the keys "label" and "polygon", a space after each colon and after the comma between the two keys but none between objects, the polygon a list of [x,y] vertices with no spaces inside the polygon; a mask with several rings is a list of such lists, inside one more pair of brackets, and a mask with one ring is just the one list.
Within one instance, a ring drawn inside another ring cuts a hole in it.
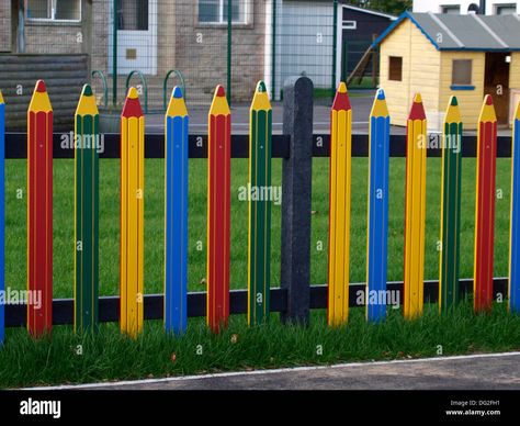
[{"label": "yellow wooden playhouse with grey roof and blue trim", "polygon": [[519,15],[405,12],[376,45],[392,124],[406,125],[415,92],[422,94],[431,130],[440,130],[452,94],[465,130],[476,128],[487,93],[499,123],[511,122],[520,99]]}]

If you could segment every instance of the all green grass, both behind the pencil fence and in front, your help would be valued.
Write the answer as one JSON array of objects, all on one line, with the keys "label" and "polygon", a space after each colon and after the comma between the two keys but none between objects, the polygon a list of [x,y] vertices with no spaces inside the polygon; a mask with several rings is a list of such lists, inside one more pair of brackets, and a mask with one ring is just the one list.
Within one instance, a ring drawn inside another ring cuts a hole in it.
[{"label": "all green grass, both behind the pencil fence and in front", "polygon": [[[281,160],[273,161],[273,184],[281,184]],[[54,296],[71,298],[74,282],[74,162],[55,160],[54,169]],[[162,291],[163,268],[163,161],[146,160],[145,177],[145,292]],[[231,288],[247,282],[247,203],[238,200],[238,187],[247,183],[247,161],[231,164]],[[100,166],[100,294],[118,293],[118,160]],[[510,160],[498,159],[497,188],[501,198],[496,208],[495,276],[508,269]],[[26,165],[7,162],[7,285],[25,288],[26,267]],[[352,164],[351,282],[364,281],[366,244],[368,159]],[[403,226],[405,160],[391,159],[388,279],[403,279]],[[425,278],[438,276],[440,208],[440,160],[428,159],[427,240]],[[18,190],[23,197],[18,198]],[[463,160],[461,278],[473,274],[475,159]],[[327,281],[328,159],[313,162],[312,282]],[[272,209],[272,283],[280,283],[281,206]],[[204,290],[206,233],[206,161],[190,161],[189,289]],[[238,335],[238,343],[230,336]],[[83,354],[76,355],[78,345]],[[195,354],[202,345],[203,355]],[[316,346],[324,355],[316,355]],[[102,324],[95,338],[79,337],[70,326],[57,326],[53,337],[32,340],[25,329],[10,328],[0,349],[0,386],[88,382],[169,374],[197,373],[250,368],[330,363],[347,360],[394,359],[437,354],[513,350],[520,348],[520,316],[496,305],[488,316],[474,316],[471,303],[454,314],[439,317],[437,305],[428,305],[425,316],[406,322],[399,311],[389,311],[387,323],[366,324],[361,309],[352,310],[347,327],[331,329],[325,313],[315,311],[308,328],[281,325],[272,315],[269,325],[248,329],[246,320],[235,315],[221,336],[213,336],[201,318],[189,322],[188,334],[170,338],[161,323],[145,323],[137,341],[122,337],[117,324]],[[171,354],[177,360],[171,361]]]}]

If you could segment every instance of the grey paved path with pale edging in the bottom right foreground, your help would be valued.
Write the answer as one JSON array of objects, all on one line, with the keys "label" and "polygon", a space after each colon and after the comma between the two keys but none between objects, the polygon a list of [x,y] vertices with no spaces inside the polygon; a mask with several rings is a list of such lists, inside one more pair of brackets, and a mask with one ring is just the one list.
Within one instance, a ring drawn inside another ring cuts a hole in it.
[{"label": "grey paved path with pale edging in the bottom right foreground", "polygon": [[[78,386],[63,386],[75,389]],[[520,352],[89,384],[113,390],[520,390]]]}]

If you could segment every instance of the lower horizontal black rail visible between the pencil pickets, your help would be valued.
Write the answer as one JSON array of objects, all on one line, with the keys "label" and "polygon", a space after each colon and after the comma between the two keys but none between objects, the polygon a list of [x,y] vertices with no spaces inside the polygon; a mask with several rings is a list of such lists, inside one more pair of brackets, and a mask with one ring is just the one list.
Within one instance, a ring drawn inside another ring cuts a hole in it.
[{"label": "lower horizontal black rail visible between the pencil pickets", "polygon": [[[473,293],[473,279],[463,279],[460,281],[462,298]],[[350,284],[349,287],[349,305],[351,307],[361,307],[365,305],[364,283]],[[394,293],[399,298],[399,304],[403,305],[403,282],[388,282],[387,301],[392,301]],[[494,279],[494,296],[505,295],[508,291],[507,278]],[[360,293],[361,292],[361,293]],[[271,312],[285,312],[287,307],[287,290],[273,288],[270,292]],[[359,303],[362,301],[362,303]],[[425,302],[437,303],[439,301],[439,281],[425,281]],[[162,320],[165,298],[162,294],[147,294],[145,302],[145,320]],[[120,321],[120,296],[103,296],[99,300],[99,321],[101,323],[115,323]],[[246,314],[247,313],[247,290],[231,290],[229,294],[229,313]],[[391,304],[391,303],[388,303]],[[327,285],[310,287],[310,303],[313,310],[327,307]],[[26,324],[27,306],[25,304],[5,305],[5,326],[21,327]],[[201,317],[206,315],[206,292],[188,293],[188,316]],[[53,301],[53,324],[67,325],[74,323],[74,300],[72,299],[55,299]]]}]

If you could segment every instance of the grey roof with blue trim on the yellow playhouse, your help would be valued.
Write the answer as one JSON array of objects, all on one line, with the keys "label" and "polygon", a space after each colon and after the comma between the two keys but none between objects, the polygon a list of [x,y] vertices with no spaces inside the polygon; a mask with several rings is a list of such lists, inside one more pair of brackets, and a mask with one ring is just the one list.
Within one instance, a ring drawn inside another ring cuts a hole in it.
[{"label": "grey roof with blue trim on the yellow playhouse", "polygon": [[520,16],[403,13],[373,43],[380,44],[409,19],[438,51],[520,51]]}]

